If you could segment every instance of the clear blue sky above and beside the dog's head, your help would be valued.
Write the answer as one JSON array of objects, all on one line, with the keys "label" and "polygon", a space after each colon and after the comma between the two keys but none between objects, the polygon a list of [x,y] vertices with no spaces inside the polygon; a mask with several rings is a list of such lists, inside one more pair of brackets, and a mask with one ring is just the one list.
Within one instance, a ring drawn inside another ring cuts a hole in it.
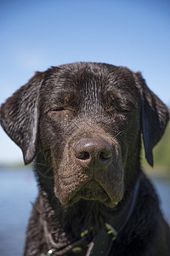
[{"label": "clear blue sky above and beside the dog's head", "polygon": [[[141,71],[170,105],[169,0],[1,1],[0,34],[0,103],[37,70],[99,61]],[[2,128],[0,144],[0,162],[22,159]]]}]

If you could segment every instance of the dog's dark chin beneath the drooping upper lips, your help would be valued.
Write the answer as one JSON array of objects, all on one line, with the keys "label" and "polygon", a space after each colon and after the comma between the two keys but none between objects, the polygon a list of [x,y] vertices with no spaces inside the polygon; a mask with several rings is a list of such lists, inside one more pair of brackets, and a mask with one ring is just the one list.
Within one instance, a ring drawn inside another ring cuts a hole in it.
[{"label": "dog's dark chin beneath the drooping upper lips", "polygon": [[70,199],[61,200],[61,204],[70,207],[78,201],[96,201],[105,204],[106,207],[116,207],[117,202],[111,201],[111,198],[96,181],[85,183]]}]

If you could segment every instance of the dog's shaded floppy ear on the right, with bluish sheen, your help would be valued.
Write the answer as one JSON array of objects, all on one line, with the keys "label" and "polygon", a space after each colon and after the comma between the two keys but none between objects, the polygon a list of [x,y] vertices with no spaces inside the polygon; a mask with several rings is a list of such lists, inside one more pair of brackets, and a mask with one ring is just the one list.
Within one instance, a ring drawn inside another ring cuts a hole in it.
[{"label": "dog's shaded floppy ear on the right, with bluish sheen", "polygon": [[135,73],[142,98],[142,132],[144,139],[145,157],[153,166],[152,148],[159,142],[167,122],[169,112],[167,106],[148,88],[140,73]]}]

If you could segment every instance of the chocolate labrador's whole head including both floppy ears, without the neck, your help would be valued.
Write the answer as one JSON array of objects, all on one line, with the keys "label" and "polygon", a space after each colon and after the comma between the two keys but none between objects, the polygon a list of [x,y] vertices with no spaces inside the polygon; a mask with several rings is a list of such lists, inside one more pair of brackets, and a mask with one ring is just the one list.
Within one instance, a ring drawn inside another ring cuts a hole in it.
[{"label": "chocolate labrador's whole head including both floppy ears, without the neck", "polygon": [[114,207],[139,175],[141,133],[152,166],[169,113],[140,73],[75,63],[36,73],[3,104],[0,119],[26,164],[41,148],[63,204],[82,198]]}]

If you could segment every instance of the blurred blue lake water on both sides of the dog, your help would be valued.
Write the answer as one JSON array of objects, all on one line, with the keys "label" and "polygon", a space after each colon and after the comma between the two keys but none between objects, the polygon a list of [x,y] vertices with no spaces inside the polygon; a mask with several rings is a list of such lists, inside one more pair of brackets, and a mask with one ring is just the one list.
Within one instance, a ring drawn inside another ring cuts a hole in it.
[{"label": "blurred blue lake water on both sides of the dog", "polygon": [[[161,208],[170,224],[170,182],[153,179],[161,198]],[[29,169],[0,168],[0,255],[21,256],[31,202],[37,197],[37,183]]]}]

